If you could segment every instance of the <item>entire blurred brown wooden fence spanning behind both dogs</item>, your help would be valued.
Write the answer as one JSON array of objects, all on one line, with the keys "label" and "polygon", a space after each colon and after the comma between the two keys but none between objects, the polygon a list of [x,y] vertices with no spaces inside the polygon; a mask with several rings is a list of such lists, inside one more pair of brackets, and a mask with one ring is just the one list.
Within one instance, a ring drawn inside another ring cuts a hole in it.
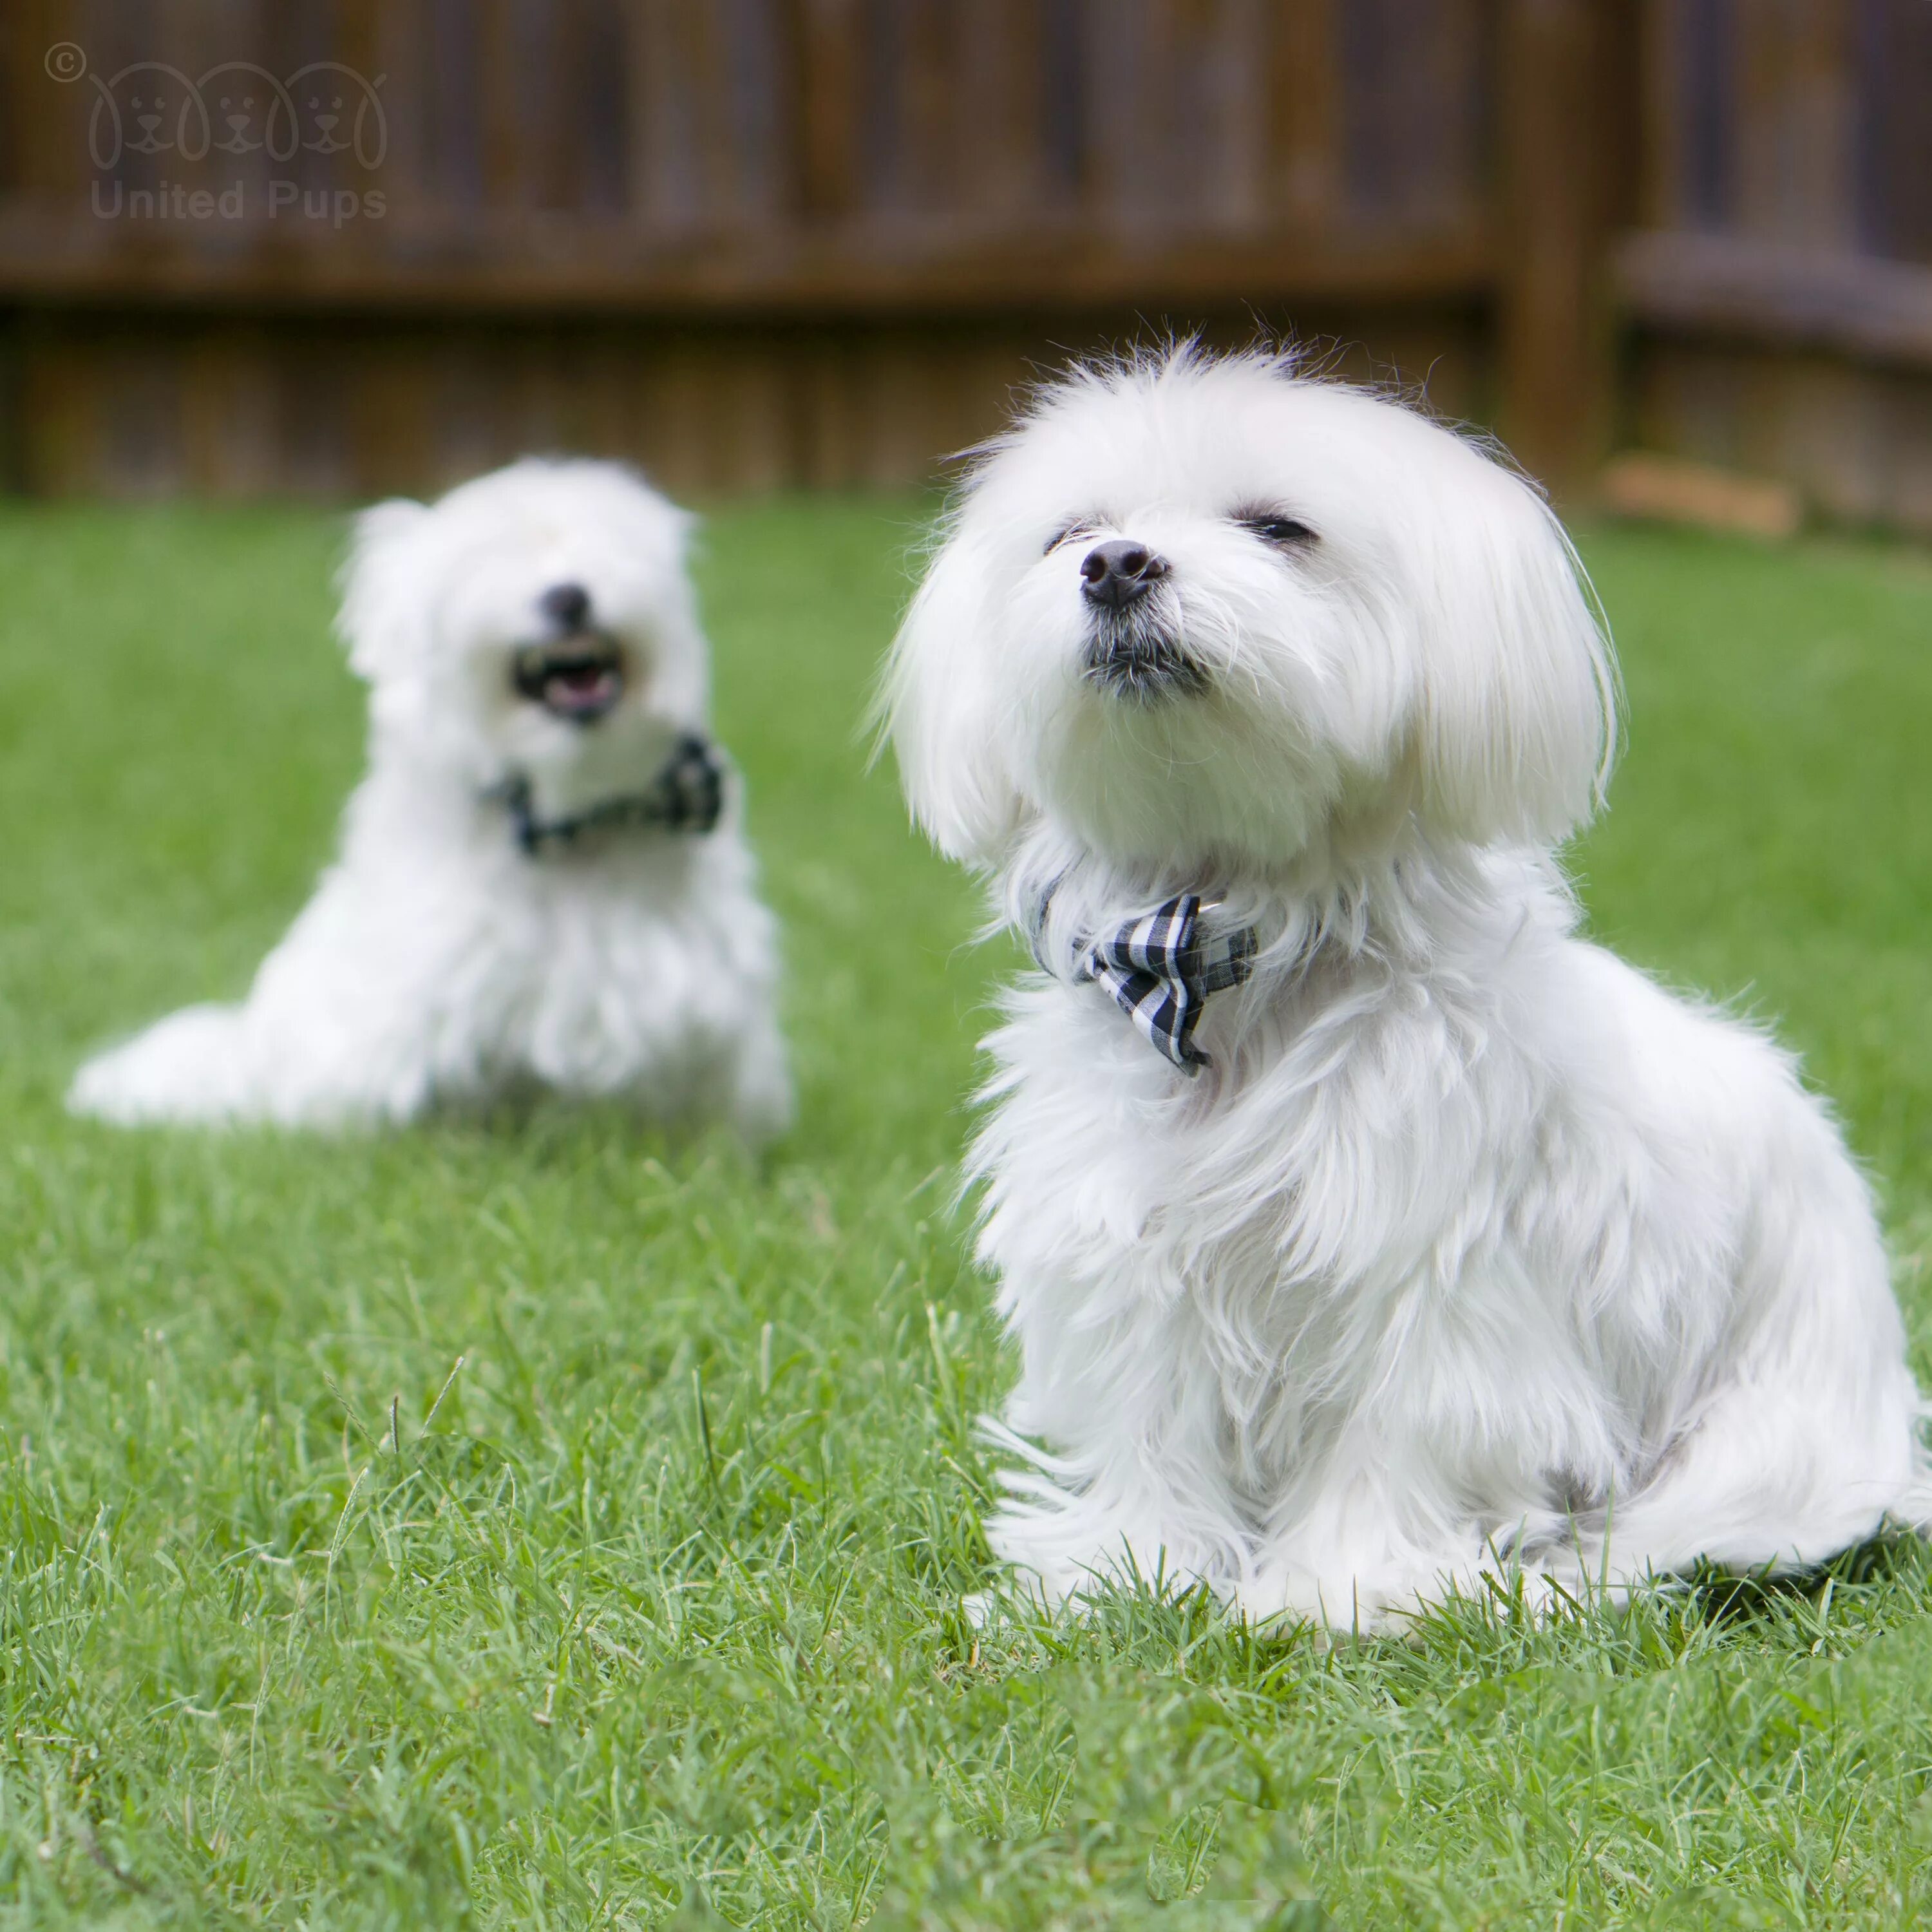
[{"label": "entire blurred brown wooden fence spanning behind both dogs", "polygon": [[906,481],[1066,350],[1260,325],[1565,491],[1636,440],[1932,529],[1932,0],[8,0],[0,37],[29,489]]}]

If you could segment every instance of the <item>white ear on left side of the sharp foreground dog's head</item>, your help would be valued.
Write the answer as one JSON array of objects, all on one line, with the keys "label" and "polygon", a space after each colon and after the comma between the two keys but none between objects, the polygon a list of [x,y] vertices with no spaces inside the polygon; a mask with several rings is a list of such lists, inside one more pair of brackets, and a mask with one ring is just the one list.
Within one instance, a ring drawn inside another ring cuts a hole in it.
[{"label": "white ear on left side of the sharp foreground dog's head", "polygon": [[968,533],[933,558],[875,705],[906,804],[949,858],[995,864],[1020,821],[985,609],[985,558]]}]

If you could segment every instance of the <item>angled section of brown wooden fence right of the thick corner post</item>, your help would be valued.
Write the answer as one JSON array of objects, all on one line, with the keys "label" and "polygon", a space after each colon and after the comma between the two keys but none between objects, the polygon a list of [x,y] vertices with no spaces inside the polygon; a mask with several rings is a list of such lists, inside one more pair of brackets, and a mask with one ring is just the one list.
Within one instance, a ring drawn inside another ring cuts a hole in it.
[{"label": "angled section of brown wooden fence right of the thick corner post", "polygon": [[1650,0],[1627,433],[1932,533],[1932,4]]}]

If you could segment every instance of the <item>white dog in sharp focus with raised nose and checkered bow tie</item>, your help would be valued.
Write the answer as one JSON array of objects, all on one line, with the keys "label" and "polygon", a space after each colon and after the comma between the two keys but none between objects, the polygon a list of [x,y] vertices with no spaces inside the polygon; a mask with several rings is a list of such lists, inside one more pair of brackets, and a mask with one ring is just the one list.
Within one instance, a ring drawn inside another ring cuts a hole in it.
[{"label": "white dog in sharp focus with raised nose and checkered bow tie", "polygon": [[1575,933],[1613,686],[1530,487],[1281,359],[1080,373],[983,454],[883,711],[1043,968],[972,1171],[1045,1598],[1378,1627],[1932,1513],[1826,1109]]}]

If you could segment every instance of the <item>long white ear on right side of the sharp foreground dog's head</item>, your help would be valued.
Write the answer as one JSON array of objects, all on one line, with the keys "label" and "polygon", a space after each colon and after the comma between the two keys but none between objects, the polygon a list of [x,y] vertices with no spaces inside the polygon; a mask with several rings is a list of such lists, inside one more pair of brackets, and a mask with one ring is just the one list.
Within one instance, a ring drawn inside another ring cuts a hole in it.
[{"label": "long white ear on right side of the sharp foreground dog's head", "polygon": [[1501,464],[1484,468],[1435,531],[1422,810],[1451,837],[1553,842],[1602,802],[1615,661],[1555,514]]}]

